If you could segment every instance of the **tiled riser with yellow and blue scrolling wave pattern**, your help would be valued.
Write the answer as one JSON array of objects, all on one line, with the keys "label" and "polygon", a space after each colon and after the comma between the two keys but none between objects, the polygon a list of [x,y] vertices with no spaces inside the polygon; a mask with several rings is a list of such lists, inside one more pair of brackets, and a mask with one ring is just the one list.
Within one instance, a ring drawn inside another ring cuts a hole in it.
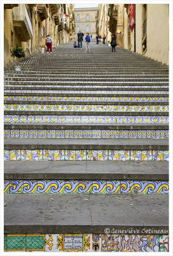
[{"label": "tiled riser with yellow and blue scrolling wave pattern", "polygon": [[169,182],[149,180],[5,180],[4,193],[169,194]]}]

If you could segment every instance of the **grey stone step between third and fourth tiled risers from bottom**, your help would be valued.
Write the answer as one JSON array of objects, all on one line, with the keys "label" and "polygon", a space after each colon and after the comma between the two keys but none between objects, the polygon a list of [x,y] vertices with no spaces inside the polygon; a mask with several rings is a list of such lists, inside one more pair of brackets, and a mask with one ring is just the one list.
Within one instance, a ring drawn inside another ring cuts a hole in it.
[{"label": "grey stone step between third and fourth tiled risers from bottom", "polygon": [[169,150],[169,140],[154,139],[57,139],[6,138],[4,150],[66,149],[66,150]]}]

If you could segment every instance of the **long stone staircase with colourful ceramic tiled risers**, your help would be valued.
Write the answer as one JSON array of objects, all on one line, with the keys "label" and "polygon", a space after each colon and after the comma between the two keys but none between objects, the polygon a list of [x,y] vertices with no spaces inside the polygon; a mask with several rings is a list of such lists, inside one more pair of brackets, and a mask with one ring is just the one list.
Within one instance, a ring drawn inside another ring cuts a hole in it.
[{"label": "long stone staircase with colourful ceramic tiled risers", "polygon": [[4,251],[169,251],[169,67],[91,42],[4,72]]}]

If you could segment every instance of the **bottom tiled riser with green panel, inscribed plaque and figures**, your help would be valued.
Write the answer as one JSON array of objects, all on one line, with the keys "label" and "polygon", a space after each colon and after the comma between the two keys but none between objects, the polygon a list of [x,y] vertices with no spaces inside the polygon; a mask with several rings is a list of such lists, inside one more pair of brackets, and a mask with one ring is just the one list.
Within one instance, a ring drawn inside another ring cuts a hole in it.
[{"label": "bottom tiled riser with green panel, inscribed plaque and figures", "polygon": [[[148,243],[150,241],[150,243]],[[4,251],[169,252],[165,234],[7,234]]]}]

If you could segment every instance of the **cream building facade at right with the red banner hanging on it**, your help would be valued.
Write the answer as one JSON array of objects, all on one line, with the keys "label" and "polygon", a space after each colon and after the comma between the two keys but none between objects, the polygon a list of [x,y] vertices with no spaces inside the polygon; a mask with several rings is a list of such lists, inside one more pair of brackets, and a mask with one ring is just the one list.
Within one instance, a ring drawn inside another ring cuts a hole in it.
[{"label": "cream building facade at right with the red banner hanging on it", "polygon": [[169,64],[169,4],[124,4],[123,25],[125,49]]}]

